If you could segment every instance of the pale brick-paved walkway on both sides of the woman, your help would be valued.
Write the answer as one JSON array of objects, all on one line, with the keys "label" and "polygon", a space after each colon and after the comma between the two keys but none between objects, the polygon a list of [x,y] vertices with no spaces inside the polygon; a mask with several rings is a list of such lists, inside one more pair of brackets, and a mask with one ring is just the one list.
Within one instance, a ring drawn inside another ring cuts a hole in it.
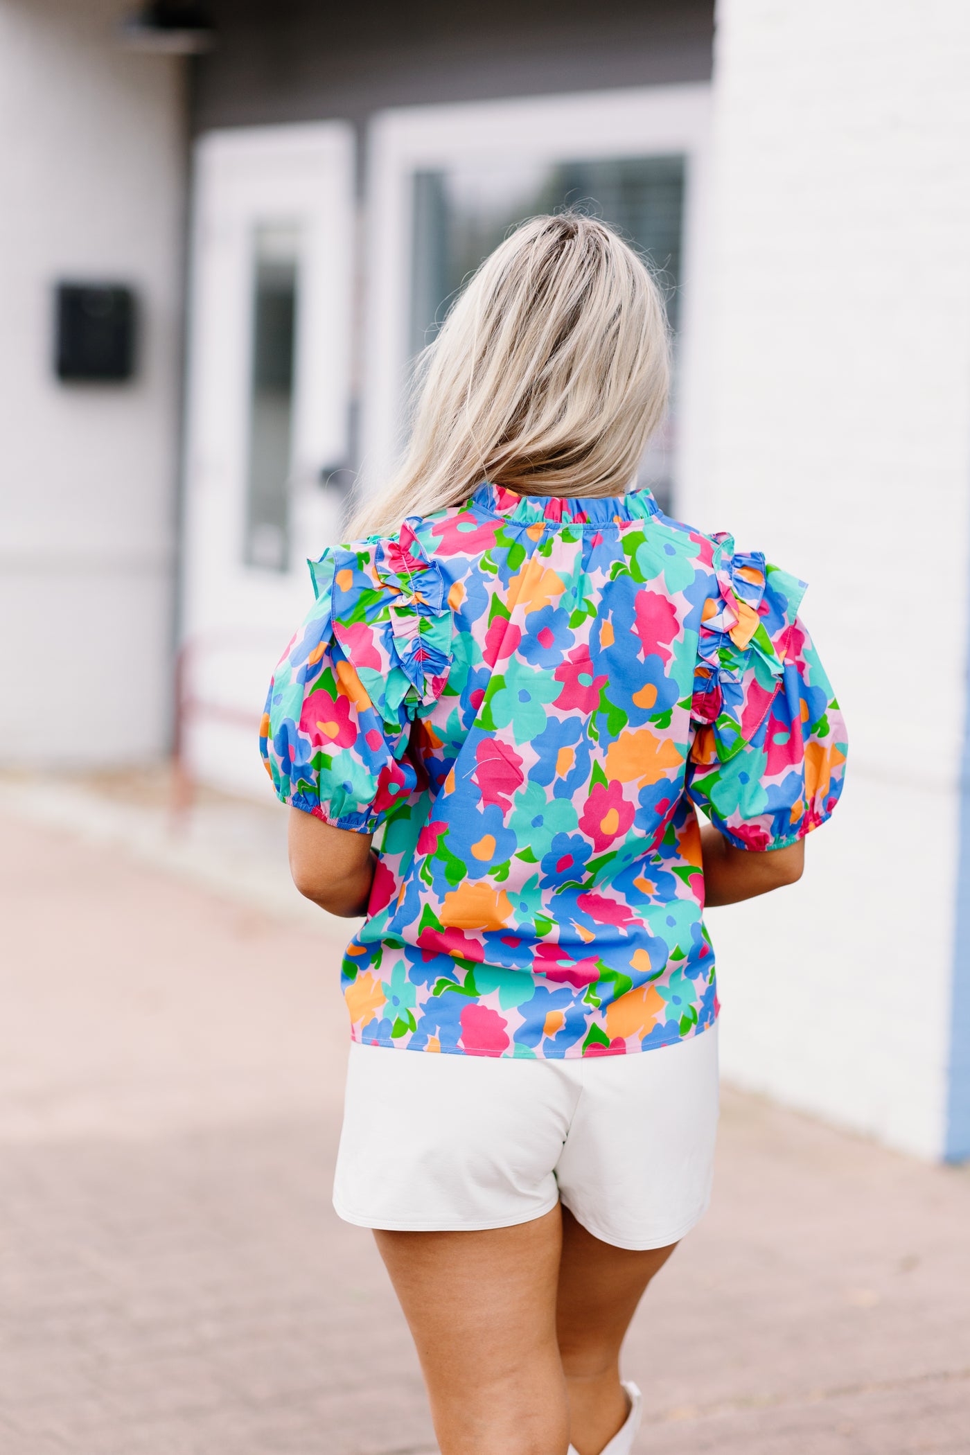
[{"label": "pale brick-paved walkway on both sides of the woman", "polygon": [[[0,893],[3,1455],[429,1455],[329,1203],[332,927],[10,806]],[[637,1449],[967,1455],[969,1232],[966,1171],[726,1094],[714,1208],[628,1342]]]}]

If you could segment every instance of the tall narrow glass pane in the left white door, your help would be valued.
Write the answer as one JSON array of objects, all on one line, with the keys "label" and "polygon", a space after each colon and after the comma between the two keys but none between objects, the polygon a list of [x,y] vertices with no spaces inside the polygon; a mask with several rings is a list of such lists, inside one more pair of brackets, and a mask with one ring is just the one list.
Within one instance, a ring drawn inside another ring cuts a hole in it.
[{"label": "tall narrow glass pane in the left white door", "polygon": [[260,224],[253,239],[246,563],[286,570],[300,230]]}]

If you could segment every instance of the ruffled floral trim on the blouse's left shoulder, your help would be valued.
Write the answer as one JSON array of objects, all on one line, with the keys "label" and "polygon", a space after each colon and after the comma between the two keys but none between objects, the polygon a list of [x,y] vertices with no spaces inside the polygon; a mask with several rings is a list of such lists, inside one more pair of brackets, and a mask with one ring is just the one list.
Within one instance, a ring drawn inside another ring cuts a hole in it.
[{"label": "ruffled floral trim on the blouse's left shoulder", "polygon": [[310,562],[320,599],[330,594],[327,624],[381,716],[400,728],[442,695],[452,662],[454,618],[441,563],[414,527],[397,538],[337,546]]}]

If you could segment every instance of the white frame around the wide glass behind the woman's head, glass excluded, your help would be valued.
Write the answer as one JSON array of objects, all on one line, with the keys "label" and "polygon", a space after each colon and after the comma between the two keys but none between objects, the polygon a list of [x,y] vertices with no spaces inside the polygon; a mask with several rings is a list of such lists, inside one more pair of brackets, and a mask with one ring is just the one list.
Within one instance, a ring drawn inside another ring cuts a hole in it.
[{"label": "white frame around the wide glass behind the woman's head, glass excluded", "polygon": [[368,134],[366,326],[362,412],[364,482],[378,489],[401,435],[409,359],[413,186],[416,170],[458,162],[583,162],[676,153],[686,159],[678,384],[676,498],[702,508],[701,441],[708,432],[707,233],[711,87],[636,89],[401,106],[380,112]]}]

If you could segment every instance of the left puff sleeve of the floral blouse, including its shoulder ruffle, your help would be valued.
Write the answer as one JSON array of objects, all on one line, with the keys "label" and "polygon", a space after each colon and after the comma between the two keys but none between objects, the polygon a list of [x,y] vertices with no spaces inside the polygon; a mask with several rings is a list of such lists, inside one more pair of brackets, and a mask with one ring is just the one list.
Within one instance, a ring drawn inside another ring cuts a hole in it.
[{"label": "left puff sleeve of the floral blouse, including its shoulder ruffle", "polygon": [[409,522],[310,572],[316,601],[269,684],[260,752],[284,803],[372,834],[419,787],[407,746],[451,663],[445,582]]}]

